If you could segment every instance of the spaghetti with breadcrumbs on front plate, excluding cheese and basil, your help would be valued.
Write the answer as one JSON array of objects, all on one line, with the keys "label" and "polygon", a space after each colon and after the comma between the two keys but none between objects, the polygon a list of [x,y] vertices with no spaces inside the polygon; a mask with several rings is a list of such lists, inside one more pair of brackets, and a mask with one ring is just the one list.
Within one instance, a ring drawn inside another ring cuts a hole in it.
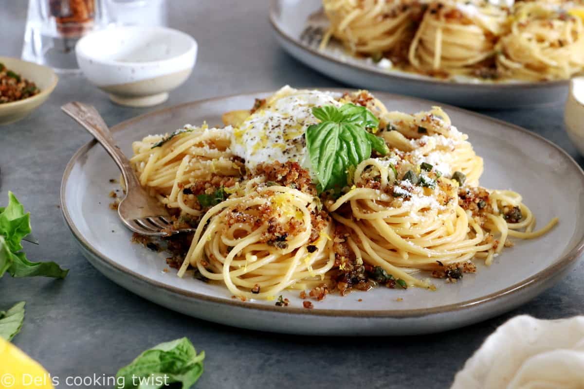
[{"label": "spaghetti with breadcrumbs on front plate, excluding cheese and basil", "polygon": [[[476,258],[490,265],[509,237],[535,238],[557,223],[535,231],[519,194],[479,187],[483,161],[440,108],[388,111],[364,91],[335,99],[367,107],[388,148],[350,167],[339,190],[319,189],[294,160],[248,169],[231,152],[230,126],[134,143],[142,185],[196,227],[179,276],[194,271],[241,299],[287,288],[320,297],[377,284],[433,288],[416,273],[456,280],[475,271]],[[271,103],[261,104],[269,112]]]}]

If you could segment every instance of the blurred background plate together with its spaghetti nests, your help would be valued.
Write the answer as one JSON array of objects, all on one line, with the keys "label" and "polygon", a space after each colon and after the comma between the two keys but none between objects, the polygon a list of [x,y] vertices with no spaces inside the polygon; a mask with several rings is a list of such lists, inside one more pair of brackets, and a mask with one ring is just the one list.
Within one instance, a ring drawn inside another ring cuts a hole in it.
[{"label": "blurred background plate together with its spaghetti nests", "polygon": [[562,100],[584,71],[584,5],[523,0],[272,0],[276,38],[358,87],[475,108]]}]

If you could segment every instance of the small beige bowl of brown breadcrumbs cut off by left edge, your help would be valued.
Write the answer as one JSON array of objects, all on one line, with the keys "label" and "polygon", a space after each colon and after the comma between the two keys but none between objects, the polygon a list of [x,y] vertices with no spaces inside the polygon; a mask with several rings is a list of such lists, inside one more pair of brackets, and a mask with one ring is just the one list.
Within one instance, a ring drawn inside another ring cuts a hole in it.
[{"label": "small beige bowl of brown breadcrumbs cut off by left edge", "polygon": [[0,125],[26,117],[47,100],[58,78],[47,66],[0,57]]}]

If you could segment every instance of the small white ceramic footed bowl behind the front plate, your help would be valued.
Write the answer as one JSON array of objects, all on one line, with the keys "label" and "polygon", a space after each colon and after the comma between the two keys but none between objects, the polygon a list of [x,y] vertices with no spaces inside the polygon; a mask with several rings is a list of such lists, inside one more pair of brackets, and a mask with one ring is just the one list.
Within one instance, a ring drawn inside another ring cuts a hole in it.
[{"label": "small white ceramic footed bowl behind the front plate", "polygon": [[160,104],[193,70],[197,42],[166,27],[116,26],[95,31],[75,46],[79,68],[114,103]]}]

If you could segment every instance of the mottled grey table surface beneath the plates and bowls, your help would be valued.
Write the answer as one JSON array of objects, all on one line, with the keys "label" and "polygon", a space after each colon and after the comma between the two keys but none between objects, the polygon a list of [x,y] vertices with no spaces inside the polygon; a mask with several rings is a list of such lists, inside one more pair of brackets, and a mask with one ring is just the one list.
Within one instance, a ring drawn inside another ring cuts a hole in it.
[{"label": "mottled grey table surface beneath the plates and bowls", "polygon": [[[0,55],[18,57],[25,0],[0,0]],[[50,373],[111,376],[149,346],[189,337],[207,354],[199,388],[446,388],[485,337],[517,314],[561,318],[584,313],[580,263],[555,288],[520,309],[443,334],[401,338],[295,337],[207,323],[159,307],[120,288],[82,257],[59,209],[59,187],[69,158],[91,138],[59,107],[91,103],[109,125],[186,101],[293,86],[342,86],[289,57],[276,44],[266,2],[169,1],[169,21],[199,41],[199,59],[187,83],[159,107],[124,108],[81,76],[63,76],[39,110],[0,128],[0,204],[12,190],[32,213],[40,246],[27,245],[33,260],[53,260],[71,269],[67,279],[0,280],[0,309],[26,301],[26,319],[15,344]],[[563,101],[534,110],[487,111],[531,129],[569,152]],[[67,387],[61,383],[60,388]],[[85,387],[102,387],[99,384]]]}]

